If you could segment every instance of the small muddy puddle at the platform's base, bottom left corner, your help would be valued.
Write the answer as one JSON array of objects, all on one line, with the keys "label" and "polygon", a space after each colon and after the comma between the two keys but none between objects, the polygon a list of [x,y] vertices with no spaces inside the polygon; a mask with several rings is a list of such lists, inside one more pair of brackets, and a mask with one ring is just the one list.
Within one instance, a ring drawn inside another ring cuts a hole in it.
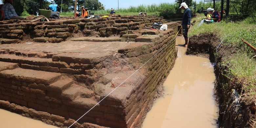
[{"label": "small muddy puddle at the platform's base, bottom left corner", "polygon": [[1,128],[57,128],[42,121],[0,109]]}]

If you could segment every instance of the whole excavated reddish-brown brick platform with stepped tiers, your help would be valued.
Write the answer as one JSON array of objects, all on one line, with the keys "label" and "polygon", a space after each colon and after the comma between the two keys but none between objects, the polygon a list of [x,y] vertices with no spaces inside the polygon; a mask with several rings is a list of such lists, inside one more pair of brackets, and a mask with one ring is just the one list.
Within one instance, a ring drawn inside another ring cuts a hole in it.
[{"label": "whole excavated reddish-brown brick platform with stepped tiers", "polygon": [[[159,21],[169,29],[144,29]],[[171,41],[74,125],[140,127],[175,63],[177,29],[154,16],[0,22],[0,107],[70,126]]]}]

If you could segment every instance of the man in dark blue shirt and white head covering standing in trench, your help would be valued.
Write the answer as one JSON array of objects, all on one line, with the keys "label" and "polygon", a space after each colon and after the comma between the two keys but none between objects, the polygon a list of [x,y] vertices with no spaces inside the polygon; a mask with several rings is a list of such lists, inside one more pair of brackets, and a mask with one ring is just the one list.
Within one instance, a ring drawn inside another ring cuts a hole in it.
[{"label": "man in dark blue shirt and white head covering standing in trench", "polygon": [[188,29],[190,28],[191,10],[188,8],[188,6],[185,2],[181,3],[180,8],[182,8],[184,10],[183,19],[182,19],[182,30],[183,30],[182,34],[185,39],[185,44],[183,46],[187,47],[188,46],[187,32],[188,32]]}]

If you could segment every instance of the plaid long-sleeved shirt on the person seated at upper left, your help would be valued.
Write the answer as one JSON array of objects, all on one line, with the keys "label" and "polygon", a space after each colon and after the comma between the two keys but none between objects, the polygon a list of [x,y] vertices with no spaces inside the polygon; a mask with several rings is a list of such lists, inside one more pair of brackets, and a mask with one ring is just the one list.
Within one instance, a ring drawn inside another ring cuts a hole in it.
[{"label": "plaid long-sleeved shirt on the person seated at upper left", "polygon": [[5,19],[11,19],[11,17],[18,16],[13,6],[10,3],[6,3],[2,6],[2,10],[5,13]]}]

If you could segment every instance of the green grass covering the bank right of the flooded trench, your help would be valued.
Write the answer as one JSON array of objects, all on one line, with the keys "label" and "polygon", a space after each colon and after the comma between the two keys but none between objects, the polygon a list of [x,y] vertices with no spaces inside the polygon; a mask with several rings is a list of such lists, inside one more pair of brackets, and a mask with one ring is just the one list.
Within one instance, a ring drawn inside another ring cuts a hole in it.
[{"label": "green grass covering the bank right of the flooded trench", "polygon": [[[203,15],[199,15],[193,20],[197,23],[192,27],[189,36],[200,35],[203,33],[216,33],[223,40],[224,47],[232,46],[234,54],[223,57],[223,66],[228,67],[226,77],[229,79],[237,79],[242,82],[246,94],[256,95],[256,60],[252,58],[253,50],[247,47],[241,41],[241,38],[256,47],[256,18],[248,17],[242,22],[231,23],[221,21],[215,24],[203,24],[197,27]],[[230,47],[229,47],[230,48]]]}]

